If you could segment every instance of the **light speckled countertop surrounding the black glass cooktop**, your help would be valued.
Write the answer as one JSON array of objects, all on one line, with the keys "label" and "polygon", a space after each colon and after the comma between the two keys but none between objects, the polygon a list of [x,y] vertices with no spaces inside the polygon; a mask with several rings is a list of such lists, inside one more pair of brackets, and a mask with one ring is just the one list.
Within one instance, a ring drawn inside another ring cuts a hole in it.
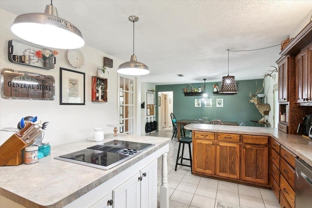
[{"label": "light speckled countertop surrounding the black glass cooktop", "polygon": [[[171,141],[170,138],[128,134],[118,134],[117,137],[105,134],[104,138],[101,142],[81,140],[76,143],[52,146],[51,155],[39,159],[36,164],[0,167],[0,194],[25,207],[64,207]],[[110,170],[54,159],[55,156],[114,139],[151,143],[155,146]]]}]

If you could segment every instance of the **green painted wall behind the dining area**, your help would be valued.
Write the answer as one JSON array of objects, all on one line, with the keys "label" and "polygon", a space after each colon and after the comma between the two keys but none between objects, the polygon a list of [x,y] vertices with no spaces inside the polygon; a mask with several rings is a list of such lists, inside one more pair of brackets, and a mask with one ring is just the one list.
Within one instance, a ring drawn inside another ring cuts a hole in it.
[{"label": "green painted wall behind the dining area", "polygon": [[[243,121],[245,126],[254,126],[254,123],[250,120],[259,120],[261,118],[261,114],[254,103],[249,103],[251,99],[249,93],[254,94],[257,90],[256,81],[258,86],[261,87],[263,79],[236,81],[237,95],[213,95],[213,85],[217,84],[219,86],[220,83],[206,82],[208,98],[212,98],[213,101],[212,107],[205,107],[204,103],[201,104],[201,107],[195,107],[195,99],[201,98],[201,96],[184,96],[183,89],[186,88],[187,84],[156,85],[156,95],[158,92],[173,91],[173,108],[177,119],[210,117],[210,120],[222,119],[224,121],[237,121],[238,123]],[[191,84],[194,88],[204,85],[203,82]],[[216,98],[223,98],[223,108],[216,107]],[[156,96],[156,99],[158,99],[158,96]],[[157,108],[156,115],[158,117]]]}]

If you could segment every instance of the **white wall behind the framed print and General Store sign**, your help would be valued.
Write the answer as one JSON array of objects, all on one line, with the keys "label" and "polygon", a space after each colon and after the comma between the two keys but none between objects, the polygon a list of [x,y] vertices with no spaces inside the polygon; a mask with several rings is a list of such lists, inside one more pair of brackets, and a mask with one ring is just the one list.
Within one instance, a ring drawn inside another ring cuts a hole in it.
[{"label": "white wall behind the framed print and General Store sign", "polygon": [[[117,67],[124,61],[85,45],[80,48],[85,56],[85,63],[83,67],[78,69],[67,62],[67,50],[59,49],[56,49],[59,52],[57,64],[51,70],[11,63],[8,60],[8,41],[18,39],[10,31],[10,25],[15,18],[15,15],[0,9],[0,68],[54,76],[56,95],[53,101],[0,98],[0,130],[6,127],[16,128],[22,117],[37,115],[42,122],[49,122],[45,130],[44,141],[49,141],[52,148],[54,145],[92,138],[95,127],[104,128],[104,133],[113,133],[113,128],[106,125],[119,123]],[[91,102],[91,76],[97,75],[96,70],[98,66],[103,64],[103,57],[114,60],[114,68],[108,68],[109,75],[105,73],[105,77],[108,78],[108,102]],[[85,73],[85,105],[59,105],[59,67]],[[0,144],[12,134],[12,132],[0,131]]]}]

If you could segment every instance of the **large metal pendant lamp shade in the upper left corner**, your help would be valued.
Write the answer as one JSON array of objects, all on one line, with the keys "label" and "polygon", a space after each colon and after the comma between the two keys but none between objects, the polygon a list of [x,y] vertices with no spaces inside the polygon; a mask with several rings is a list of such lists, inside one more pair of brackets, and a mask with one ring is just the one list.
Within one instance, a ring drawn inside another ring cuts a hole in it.
[{"label": "large metal pendant lamp shade in the upper left corner", "polygon": [[45,7],[44,13],[27,13],[16,17],[11,31],[28,42],[51,48],[75,49],[84,45],[80,30],[59,18],[52,0]]}]

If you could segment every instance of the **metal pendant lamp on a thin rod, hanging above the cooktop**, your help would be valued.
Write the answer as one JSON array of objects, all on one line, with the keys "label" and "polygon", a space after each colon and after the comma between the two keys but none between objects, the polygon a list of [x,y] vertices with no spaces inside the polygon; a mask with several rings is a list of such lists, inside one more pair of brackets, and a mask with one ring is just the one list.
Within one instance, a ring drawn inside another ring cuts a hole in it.
[{"label": "metal pendant lamp on a thin rod, hanging above the cooktop", "polygon": [[141,62],[137,61],[135,55],[135,22],[138,21],[137,16],[130,16],[129,21],[133,22],[133,55],[130,58],[130,61],[120,64],[117,72],[123,75],[147,75],[150,73],[148,67]]}]

